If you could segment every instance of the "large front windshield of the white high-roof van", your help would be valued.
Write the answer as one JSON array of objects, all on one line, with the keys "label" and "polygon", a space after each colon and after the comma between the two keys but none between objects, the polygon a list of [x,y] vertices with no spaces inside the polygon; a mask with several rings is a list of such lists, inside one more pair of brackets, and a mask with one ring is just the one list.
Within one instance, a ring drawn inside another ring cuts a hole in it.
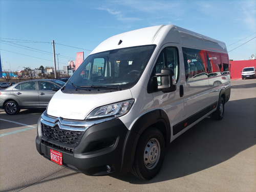
[{"label": "large front windshield of the white high-roof van", "polygon": [[110,92],[130,89],[138,82],[155,47],[130,47],[89,55],[64,90]]}]

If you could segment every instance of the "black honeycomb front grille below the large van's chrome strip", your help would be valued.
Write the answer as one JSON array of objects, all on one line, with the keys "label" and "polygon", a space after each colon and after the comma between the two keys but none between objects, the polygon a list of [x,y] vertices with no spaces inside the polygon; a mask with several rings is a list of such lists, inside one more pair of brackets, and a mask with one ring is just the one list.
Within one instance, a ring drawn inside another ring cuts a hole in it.
[{"label": "black honeycomb front grille below the large van's chrome strip", "polygon": [[52,127],[44,123],[41,123],[41,127],[42,135],[46,138],[72,146],[78,145],[84,133],[84,131],[62,130],[58,125]]}]

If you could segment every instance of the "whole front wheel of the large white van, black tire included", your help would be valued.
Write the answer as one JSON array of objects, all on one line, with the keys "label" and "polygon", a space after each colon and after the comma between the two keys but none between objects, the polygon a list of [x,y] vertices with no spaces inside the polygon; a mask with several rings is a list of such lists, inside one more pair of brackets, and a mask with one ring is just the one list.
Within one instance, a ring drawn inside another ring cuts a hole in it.
[{"label": "whole front wheel of the large white van, black tire included", "polygon": [[164,137],[158,129],[145,130],[137,144],[132,174],[143,180],[155,177],[163,164],[164,148]]}]

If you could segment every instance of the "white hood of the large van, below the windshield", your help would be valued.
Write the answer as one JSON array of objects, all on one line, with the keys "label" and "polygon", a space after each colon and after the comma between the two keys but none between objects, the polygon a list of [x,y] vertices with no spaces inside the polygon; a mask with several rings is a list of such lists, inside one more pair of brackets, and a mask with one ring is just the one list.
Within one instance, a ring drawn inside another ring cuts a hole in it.
[{"label": "white hood of the large van, below the windshield", "polygon": [[100,94],[67,94],[57,91],[50,100],[47,114],[65,119],[84,120],[99,106],[132,99],[130,89]]}]

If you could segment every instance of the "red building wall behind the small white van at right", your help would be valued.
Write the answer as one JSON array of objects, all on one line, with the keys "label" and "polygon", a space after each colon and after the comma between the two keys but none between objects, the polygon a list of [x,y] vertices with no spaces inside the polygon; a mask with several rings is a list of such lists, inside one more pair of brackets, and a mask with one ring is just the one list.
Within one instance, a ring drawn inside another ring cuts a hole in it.
[{"label": "red building wall behind the small white van at right", "polygon": [[230,62],[230,76],[232,79],[242,78],[241,71],[246,67],[256,68],[256,59],[254,60],[236,60]]}]

